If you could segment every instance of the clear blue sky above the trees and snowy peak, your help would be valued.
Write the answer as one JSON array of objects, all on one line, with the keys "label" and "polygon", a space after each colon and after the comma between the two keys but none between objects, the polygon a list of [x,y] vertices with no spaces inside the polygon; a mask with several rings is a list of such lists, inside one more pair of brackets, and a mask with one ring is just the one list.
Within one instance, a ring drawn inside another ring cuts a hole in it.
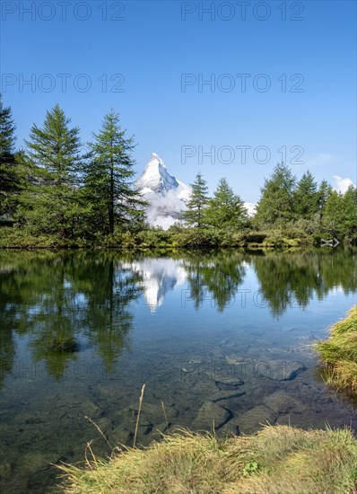
[{"label": "clear blue sky above the trees and snowy peak", "polygon": [[57,102],[83,141],[113,107],[135,135],[138,173],[155,152],[181,181],[201,171],[212,191],[225,176],[256,202],[286,149],[298,177],[356,182],[353,1],[251,0],[245,18],[241,2],[65,4],[1,5],[1,90],[18,146]]}]

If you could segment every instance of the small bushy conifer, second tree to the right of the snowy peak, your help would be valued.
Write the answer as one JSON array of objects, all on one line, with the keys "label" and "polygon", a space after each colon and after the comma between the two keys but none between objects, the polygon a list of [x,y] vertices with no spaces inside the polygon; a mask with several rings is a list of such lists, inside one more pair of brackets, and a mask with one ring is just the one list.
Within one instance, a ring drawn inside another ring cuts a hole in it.
[{"label": "small bushy conifer, second tree to the right of the snowy peak", "polygon": [[225,178],[218,182],[217,189],[214,190],[213,198],[205,209],[204,221],[207,225],[220,229],[239,229],[248,221],[244,202],[233,192]]}]

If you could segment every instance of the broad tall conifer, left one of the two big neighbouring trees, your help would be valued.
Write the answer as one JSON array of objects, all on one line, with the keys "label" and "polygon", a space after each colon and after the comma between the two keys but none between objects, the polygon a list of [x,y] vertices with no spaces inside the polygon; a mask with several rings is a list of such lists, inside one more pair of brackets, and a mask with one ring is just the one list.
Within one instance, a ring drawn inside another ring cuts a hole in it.
[{"label": "broad tall conifer, left one of the two big neighbouring trees", "polygon": [[29,185],[22,194],[18,220],[31,234],[71,238],[83,215],[77,185],[83,167],[79,128],[56,105],[43,127],[34,124],[27,145]]}]

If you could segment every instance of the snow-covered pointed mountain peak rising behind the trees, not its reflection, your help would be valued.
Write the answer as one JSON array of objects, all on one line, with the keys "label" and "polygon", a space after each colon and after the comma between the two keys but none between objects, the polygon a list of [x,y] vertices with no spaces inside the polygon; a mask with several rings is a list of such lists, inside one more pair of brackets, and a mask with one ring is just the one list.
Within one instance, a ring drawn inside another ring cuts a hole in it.
[{"label": "snow-covered pointed mountain peak rising behind the trees, not its reflection", "polygon": [[191,194],[191,188],[170,175],[156,153],[152,153],[143,174],[136,181],[136,188],[149,203],[145,210],[148,223],[165,230],[179,220]]}]

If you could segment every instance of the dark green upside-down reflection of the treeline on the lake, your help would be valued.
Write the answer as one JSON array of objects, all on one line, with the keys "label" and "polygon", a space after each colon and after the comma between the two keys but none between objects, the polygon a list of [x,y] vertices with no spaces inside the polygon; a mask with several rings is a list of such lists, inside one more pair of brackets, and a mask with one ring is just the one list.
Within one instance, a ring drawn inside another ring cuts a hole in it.
[{"label": "dark green upside-down reflection of the treeline on the lake", "polygon": [[[107,371],[114,370],[133,323],[132,302],[146,289],[144,266],[164,297],[178,279],[186,282],[197,310],[210,297],[219,312],[230,306],[250,266],[274,317],[292,305],[306,307],[313,296],[357,287],[356,251],[179,252],[158,263],[151,254],[122,251],[0,252],[0,365],[2,379],[15,358],[15,335],[29,335],[34,362],[60,380],[85,347],[93,347]],[[165,262],[167,272],[165,272]],[[173,263],[172,259],[179,260]],[[140,268],[141,263],[143,269]],[[135,268],[134,268],[135,266]],[[172,271],[173,266],[180,273]],[[182,275],[182,269],[186,272]],[[171,280],[172,278],[172,280]],[[170,280],[172,283],[170,283]],[[155,285],[155,286],[156,286]],[[161,290],[162,287],[162,290]]]}]

